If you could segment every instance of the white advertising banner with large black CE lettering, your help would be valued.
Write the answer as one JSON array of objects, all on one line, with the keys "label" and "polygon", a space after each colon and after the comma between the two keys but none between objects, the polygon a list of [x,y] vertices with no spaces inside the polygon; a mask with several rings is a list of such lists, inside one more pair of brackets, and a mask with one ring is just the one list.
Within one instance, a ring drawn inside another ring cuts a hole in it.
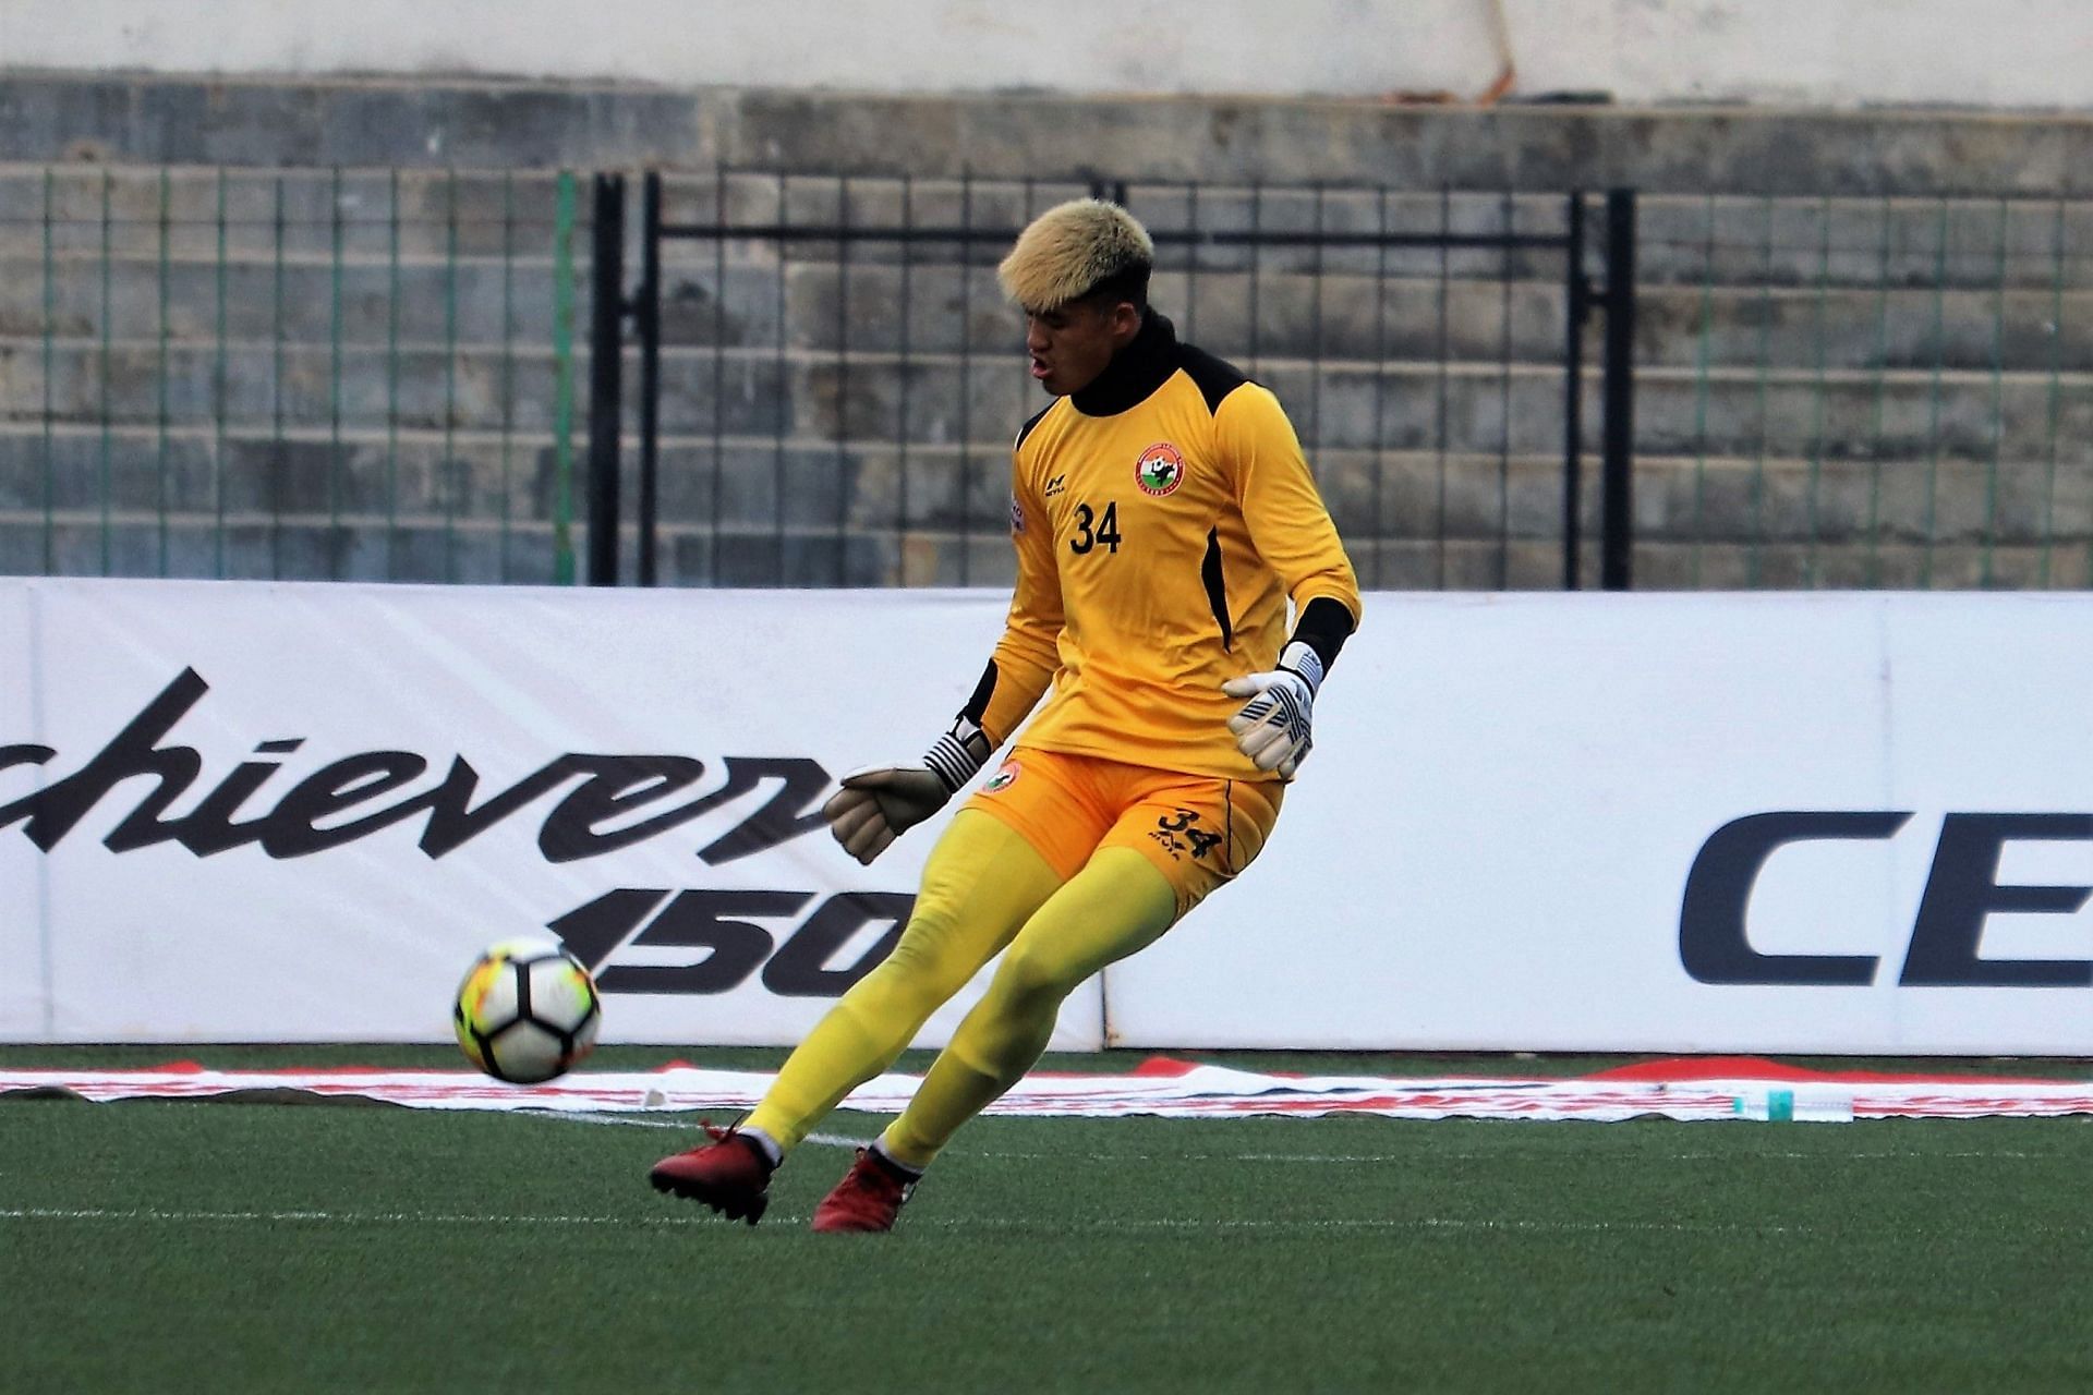
[{"label": "white advertising banner with large black CE lettering", "polygon": [[1109,1039],[2093,1054],[2089,692],[2089,596],[1369,596]]}]

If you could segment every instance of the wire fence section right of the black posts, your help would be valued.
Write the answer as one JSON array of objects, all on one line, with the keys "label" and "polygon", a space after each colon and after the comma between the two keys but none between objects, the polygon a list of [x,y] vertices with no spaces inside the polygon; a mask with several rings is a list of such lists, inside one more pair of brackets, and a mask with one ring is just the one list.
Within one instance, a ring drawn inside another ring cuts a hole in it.
[{"label": "wire fence section right of the black posts", "polygon": [[2093,586],[2093,203],[1645,199],[1637,575]]}]

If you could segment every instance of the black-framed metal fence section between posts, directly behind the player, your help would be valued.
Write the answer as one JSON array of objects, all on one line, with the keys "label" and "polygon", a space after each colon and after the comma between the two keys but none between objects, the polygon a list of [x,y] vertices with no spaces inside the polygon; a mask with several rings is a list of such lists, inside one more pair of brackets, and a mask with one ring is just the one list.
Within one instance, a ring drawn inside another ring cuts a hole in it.
[{"label": "black-framed metal fence section between posts, directly behind the player", "polygon": [[[1586,238],[1578,195],[733,169],[647,176],[630,289],[626,188],[599,178],[590,577],[1007,581],[1009,439],[1040,397],[994,264],[1078,195],[1134,209],[1155,303],[1279,391],[1367,586],[1626,584],[1580,538],[1605,504],[1626,535],[1628,195]],[[1586,418],[1595,307],[1614,370]]]}]

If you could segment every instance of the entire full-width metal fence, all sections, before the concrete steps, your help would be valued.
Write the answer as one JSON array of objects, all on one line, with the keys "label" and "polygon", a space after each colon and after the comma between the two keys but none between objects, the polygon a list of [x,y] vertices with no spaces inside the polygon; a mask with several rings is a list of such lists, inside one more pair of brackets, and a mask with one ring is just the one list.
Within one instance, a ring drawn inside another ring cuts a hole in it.
[{"label": "entire full-width metal fence, all sections, before the concrete steps", "polygon": [[[0,571],[1009,579],[1040,399],[994,261],[1088,182],[720,169],[624,228],[584,192],[0,165]],[[1630,416],[1595,201],[1109,192],[1157,305],[1279,391],[1367,586],[2093,584],[2093,203],[1643,197],[1630,510],[1584,479]]]}]

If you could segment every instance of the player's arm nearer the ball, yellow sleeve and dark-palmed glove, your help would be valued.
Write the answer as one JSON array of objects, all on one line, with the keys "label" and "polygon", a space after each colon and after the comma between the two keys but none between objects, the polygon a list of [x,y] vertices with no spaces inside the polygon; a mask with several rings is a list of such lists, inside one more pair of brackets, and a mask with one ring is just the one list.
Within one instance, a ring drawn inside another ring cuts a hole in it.
[{"label": "player's arm nearer the ball, yellow sleeve and dark-palmed glove", "polygon": [[1046,510],[1026,487],[1023,475],[1019,460],[1011,487],[1017,588],[982,682],[919,763],[848,774],[843,788],[820,809],[835,841],[862,864],[871,864],[894,839],[942,809],[980,774],[996,747],[1009,740],[1038,705],[1059,667],[1061,577]]}]

